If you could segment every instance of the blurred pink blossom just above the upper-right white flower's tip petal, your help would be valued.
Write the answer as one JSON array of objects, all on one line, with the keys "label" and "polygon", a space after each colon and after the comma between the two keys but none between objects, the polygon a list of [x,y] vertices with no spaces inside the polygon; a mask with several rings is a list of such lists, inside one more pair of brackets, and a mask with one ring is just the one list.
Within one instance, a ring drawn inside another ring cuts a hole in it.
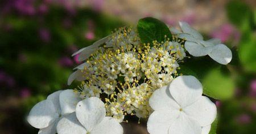
[{"label": "blurred pink blossom just above the upper-right white flower's tip petal", "polygon": [[211,36],[213,38],[220,38],[222,42],[228,41],[230,37],[234,37],[236,42],[240,40],[240,32],[231,24],[222,25],[220,28],[214,31]]}]

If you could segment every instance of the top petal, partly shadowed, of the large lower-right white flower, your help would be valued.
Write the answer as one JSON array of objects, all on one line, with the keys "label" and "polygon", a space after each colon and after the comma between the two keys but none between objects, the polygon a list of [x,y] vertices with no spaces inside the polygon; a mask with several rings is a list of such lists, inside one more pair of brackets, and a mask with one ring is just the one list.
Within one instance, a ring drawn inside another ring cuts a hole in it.
[{"label": "top petal, partly shadowed, of the large lower-right white flower", "polygon": [[170,93],[183,108],[199,100],[203,87],[194,76],[178,76],[170,84]]}]

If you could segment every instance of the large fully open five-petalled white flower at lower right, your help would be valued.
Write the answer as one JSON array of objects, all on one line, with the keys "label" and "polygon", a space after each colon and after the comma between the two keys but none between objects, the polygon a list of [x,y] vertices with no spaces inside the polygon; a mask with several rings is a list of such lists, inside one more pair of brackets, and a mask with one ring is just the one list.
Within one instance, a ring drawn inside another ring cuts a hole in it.
[{"label": "large fully open five-petalled white flower at lower right", "polygon": [[206,134],[217,114],[216,106],[202,96],[203,87],[194,76],[179,76],[152,94],[154,113],[147,122],[151,134]]}]

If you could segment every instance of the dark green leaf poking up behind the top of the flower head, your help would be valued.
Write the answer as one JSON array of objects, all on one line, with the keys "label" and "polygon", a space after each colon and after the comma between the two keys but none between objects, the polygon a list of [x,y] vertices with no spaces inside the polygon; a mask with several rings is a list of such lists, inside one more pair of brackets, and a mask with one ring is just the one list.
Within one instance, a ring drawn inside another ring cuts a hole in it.
[{"label": "dark green leaf poking up behind the top of the flower head", "polygon": [[170,29],[162,21],[155,18],[143,18],[137,25],[139,37],[142,43],[152,43],[152,41],[164,41],[164,36],[172,38]]}]

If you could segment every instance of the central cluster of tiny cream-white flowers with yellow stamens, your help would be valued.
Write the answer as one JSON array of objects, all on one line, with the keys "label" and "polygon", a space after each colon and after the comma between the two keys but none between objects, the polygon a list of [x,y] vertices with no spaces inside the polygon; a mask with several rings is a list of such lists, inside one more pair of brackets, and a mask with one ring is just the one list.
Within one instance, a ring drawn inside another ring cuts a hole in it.
[{"label": "central cluster of tiny cream-white flowers with yellow stamens", "polygon": [[[125,115],[146,118],[154,90],[176,77],[185,57],[183,40],[142,44],[134,28],[119,28],[95,51],[81,70],[85,80],[77,89],[82,97],[105,97],[107,116],[122,122]],[[127,120],[126,120],[127,121]]]}]

